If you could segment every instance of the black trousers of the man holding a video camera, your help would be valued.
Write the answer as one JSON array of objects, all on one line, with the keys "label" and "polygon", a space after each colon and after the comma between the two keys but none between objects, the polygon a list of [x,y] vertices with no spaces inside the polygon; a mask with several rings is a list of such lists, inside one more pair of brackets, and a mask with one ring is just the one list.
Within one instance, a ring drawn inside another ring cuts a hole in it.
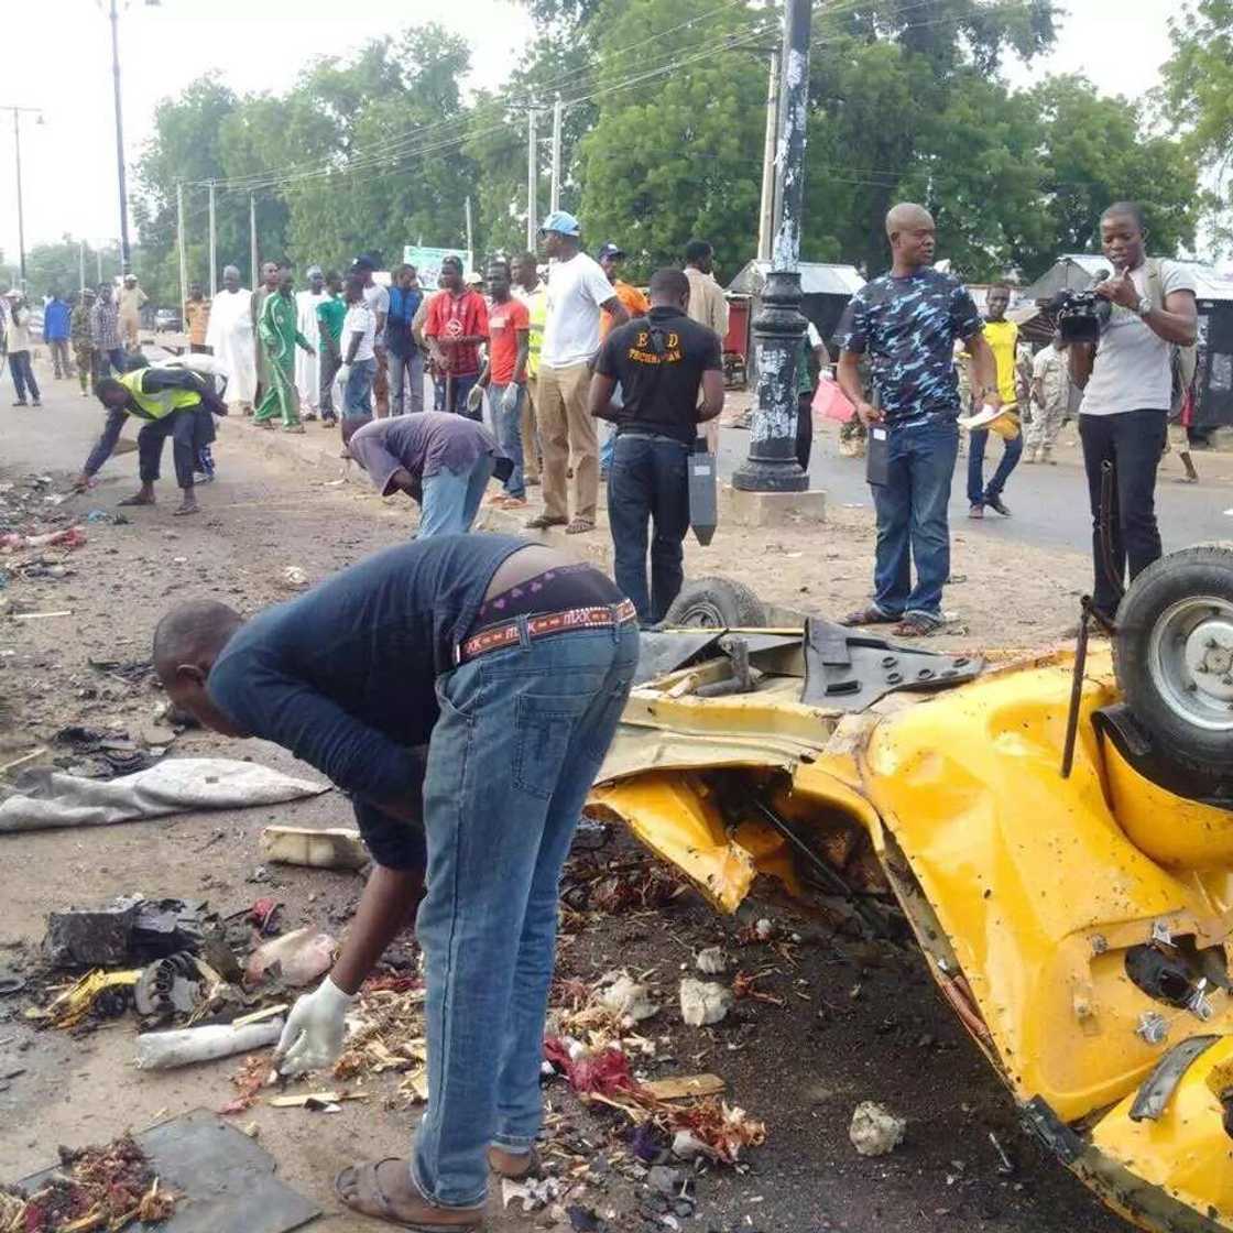
[{"label": "black trousers of the man holding a video camera", "polygon": [[1108,577],[1101,547],[1101,465],[1113,464],[1110,507],[1112,570],[1118,583],[1129,581],[1159,560],[1160,528],[1155,518],[1155,475],[1168,433],[1163,411],[1122,411],[1112,416],[1079,416],[1084,467],[1091,497],[1091,552],[1096,573],[1092,599],[1106,616],[1117,610],[1115,581]]}]

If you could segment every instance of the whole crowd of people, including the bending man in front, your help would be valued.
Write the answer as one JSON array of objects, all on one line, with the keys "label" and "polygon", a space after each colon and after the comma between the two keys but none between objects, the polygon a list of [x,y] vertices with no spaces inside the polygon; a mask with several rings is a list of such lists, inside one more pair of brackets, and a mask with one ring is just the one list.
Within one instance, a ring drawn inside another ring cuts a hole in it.
[{"label": "whole crowd of people, including the bending man in front", "polygon": [[[92,387],[107,409],[83,485],[134,417],[142,488],[129,503],[154,499],[170,438],[184,490],[178,513],[192,513],[213,417],[231,409],[263,432],[339,423],[372,483],[422,506],[412,544],[252,620],[215,599],[181,603],[153,646],[171,700],[202,725],[281,743],[344,789],[374,861],[332,970],[287,1016],[282,1073],[337,1060],[364,981],[417,922],[427,1108],[407,1159],[350,1165],[335,1181],[346,1206],[408,1228],[476,1228],[490,1175],[524,1180],[540,1170],[561,870],[629,695],[637,625],[658,621],[681,588],[688,460],[707,448],[724,406],[726,308],[707,244],[689,245],[683,269],[655,271],[644,296],[620,280],[616,243],[594,258],[583,252],[571,215],[551,213],[541,236],[546,280],[531,254],[496,258],[487,296],[460,260],[443,264],[432,292],[409,266],[381,286],[371,254],[345,277],[308,269],[300,292],[285,265],[268,263],[253,291],[228,266],[213,300],[190,292],[187,354],[154,365],[138,365],[125,345],[110,286],[76,305],[53,300],[55,311],[44,312],[57,377],[72,375],[72,349],[83,392]],[[870,469],[874,594],[848,623],[894,625],[900,637],[941,626],[961,427],[969,510],[1005,517],[1021,453],[1052,461],[1071,381],[1084,391],[1095,609],[1111,621],[1124,577],[1160,555],[1155,475],[1196,340],[1189,275],[1147,258],[1141,211],[1115,203],[1101,219],[1113,274],[1096,287],[1108,305],[1099,339],[1059,335],[1028,374],[1006,319],[1009,289],[991,290],[981,317],[963,284],[935,268],[935,224],[920,206],[895,206],[887,236],[893,266],[853,296],[837,339],[838,383],[870,455],[880,451]],[[28,309],[20,296],[10,305],[15,387],[37,403]],[[779,391],[780,404],[795,397],[806,470],[825,355],[820,338],[803,334],[794,388]],[[432,411],[423,409],[425,365]],[[1042,413],[1023,441],[1027,398]],[[546,544],[467,534],[493,476],[502,488],[490,499],[512,509],[540,483],[544,508],[529,528],[592,531],[600,423],[614,425],[615,581]],[[1005,445],[986,482],[993,434]],[[1113,501],[1102,506],[1107,464]]]}]

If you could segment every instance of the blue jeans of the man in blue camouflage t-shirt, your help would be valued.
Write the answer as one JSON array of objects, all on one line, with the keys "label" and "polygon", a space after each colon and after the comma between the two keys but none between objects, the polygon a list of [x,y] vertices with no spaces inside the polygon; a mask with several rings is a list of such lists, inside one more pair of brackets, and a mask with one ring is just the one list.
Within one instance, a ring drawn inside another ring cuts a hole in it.
[{"label": "blue jeans of the man in blue camouflage t-shirt", "polygon": [[958,454],[954,420],[890,430],[889,482],[870,485],[878,514],[874,604],[888,616],[919,613],[941,620],[942,587],[951,575],[947,502]]}]

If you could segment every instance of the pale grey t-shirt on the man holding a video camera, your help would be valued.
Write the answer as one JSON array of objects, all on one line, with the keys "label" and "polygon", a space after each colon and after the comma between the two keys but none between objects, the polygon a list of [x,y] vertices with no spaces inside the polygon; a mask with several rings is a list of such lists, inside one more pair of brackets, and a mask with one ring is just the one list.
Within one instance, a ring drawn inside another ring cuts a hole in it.
[{"label": "pale grey t-shirt on the man holding a video camera", "polygon": [[[1147,263],[1131,271],[1141,296],[1147,295]],[[1194,291],[1195,280],[1176,261],[1160,263],[1160,289]],[[1083,393],[1084,416],[1116,416],[1122,411],[1169,411],[1173,404],[1171,344],[1137,312],[1112,306],[1100,333],[1096,361]]]}]

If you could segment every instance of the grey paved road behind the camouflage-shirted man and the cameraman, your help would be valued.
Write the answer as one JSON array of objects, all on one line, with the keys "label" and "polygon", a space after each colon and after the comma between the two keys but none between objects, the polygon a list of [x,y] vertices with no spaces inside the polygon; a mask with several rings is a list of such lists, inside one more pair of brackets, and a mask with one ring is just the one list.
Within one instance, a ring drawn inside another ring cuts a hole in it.
[{"label": "grey paved road behind the camouflage-shirted man and the cameraman", "polygon": [[[1064,439],[1070,435],[1068,429]],[[745,460],[747,449],[748,433],[725,429],[720,445],[720,475],[731,475]],[[986,482],[999,457],[997,446],[990,445],[985,457]],[[1058,466],[1020,464],[1005,493],[1014,517],[1002,519],[989,513],[981,530],[1041,547],[1088,551],[1091,523],[1078,446],[1063,449],[1060,459]],[[1161,469],[1157,508],[1164,546],[1169,551],[1201,540],[1233,539],[1233,456],[1198,453],[1195,459],[1203,477],[1197,485],[1174,482],[1181,473],[1175,457],[1166,457]],[[959,459],[951,497],[952,525],[968,523],[967,466],[967,457]],[[841,457],[832,433],[822,430],[814,438],[810,482],[815,488],[824,488],[836,504],[872,507],[864,482],[864,462]]]}]

